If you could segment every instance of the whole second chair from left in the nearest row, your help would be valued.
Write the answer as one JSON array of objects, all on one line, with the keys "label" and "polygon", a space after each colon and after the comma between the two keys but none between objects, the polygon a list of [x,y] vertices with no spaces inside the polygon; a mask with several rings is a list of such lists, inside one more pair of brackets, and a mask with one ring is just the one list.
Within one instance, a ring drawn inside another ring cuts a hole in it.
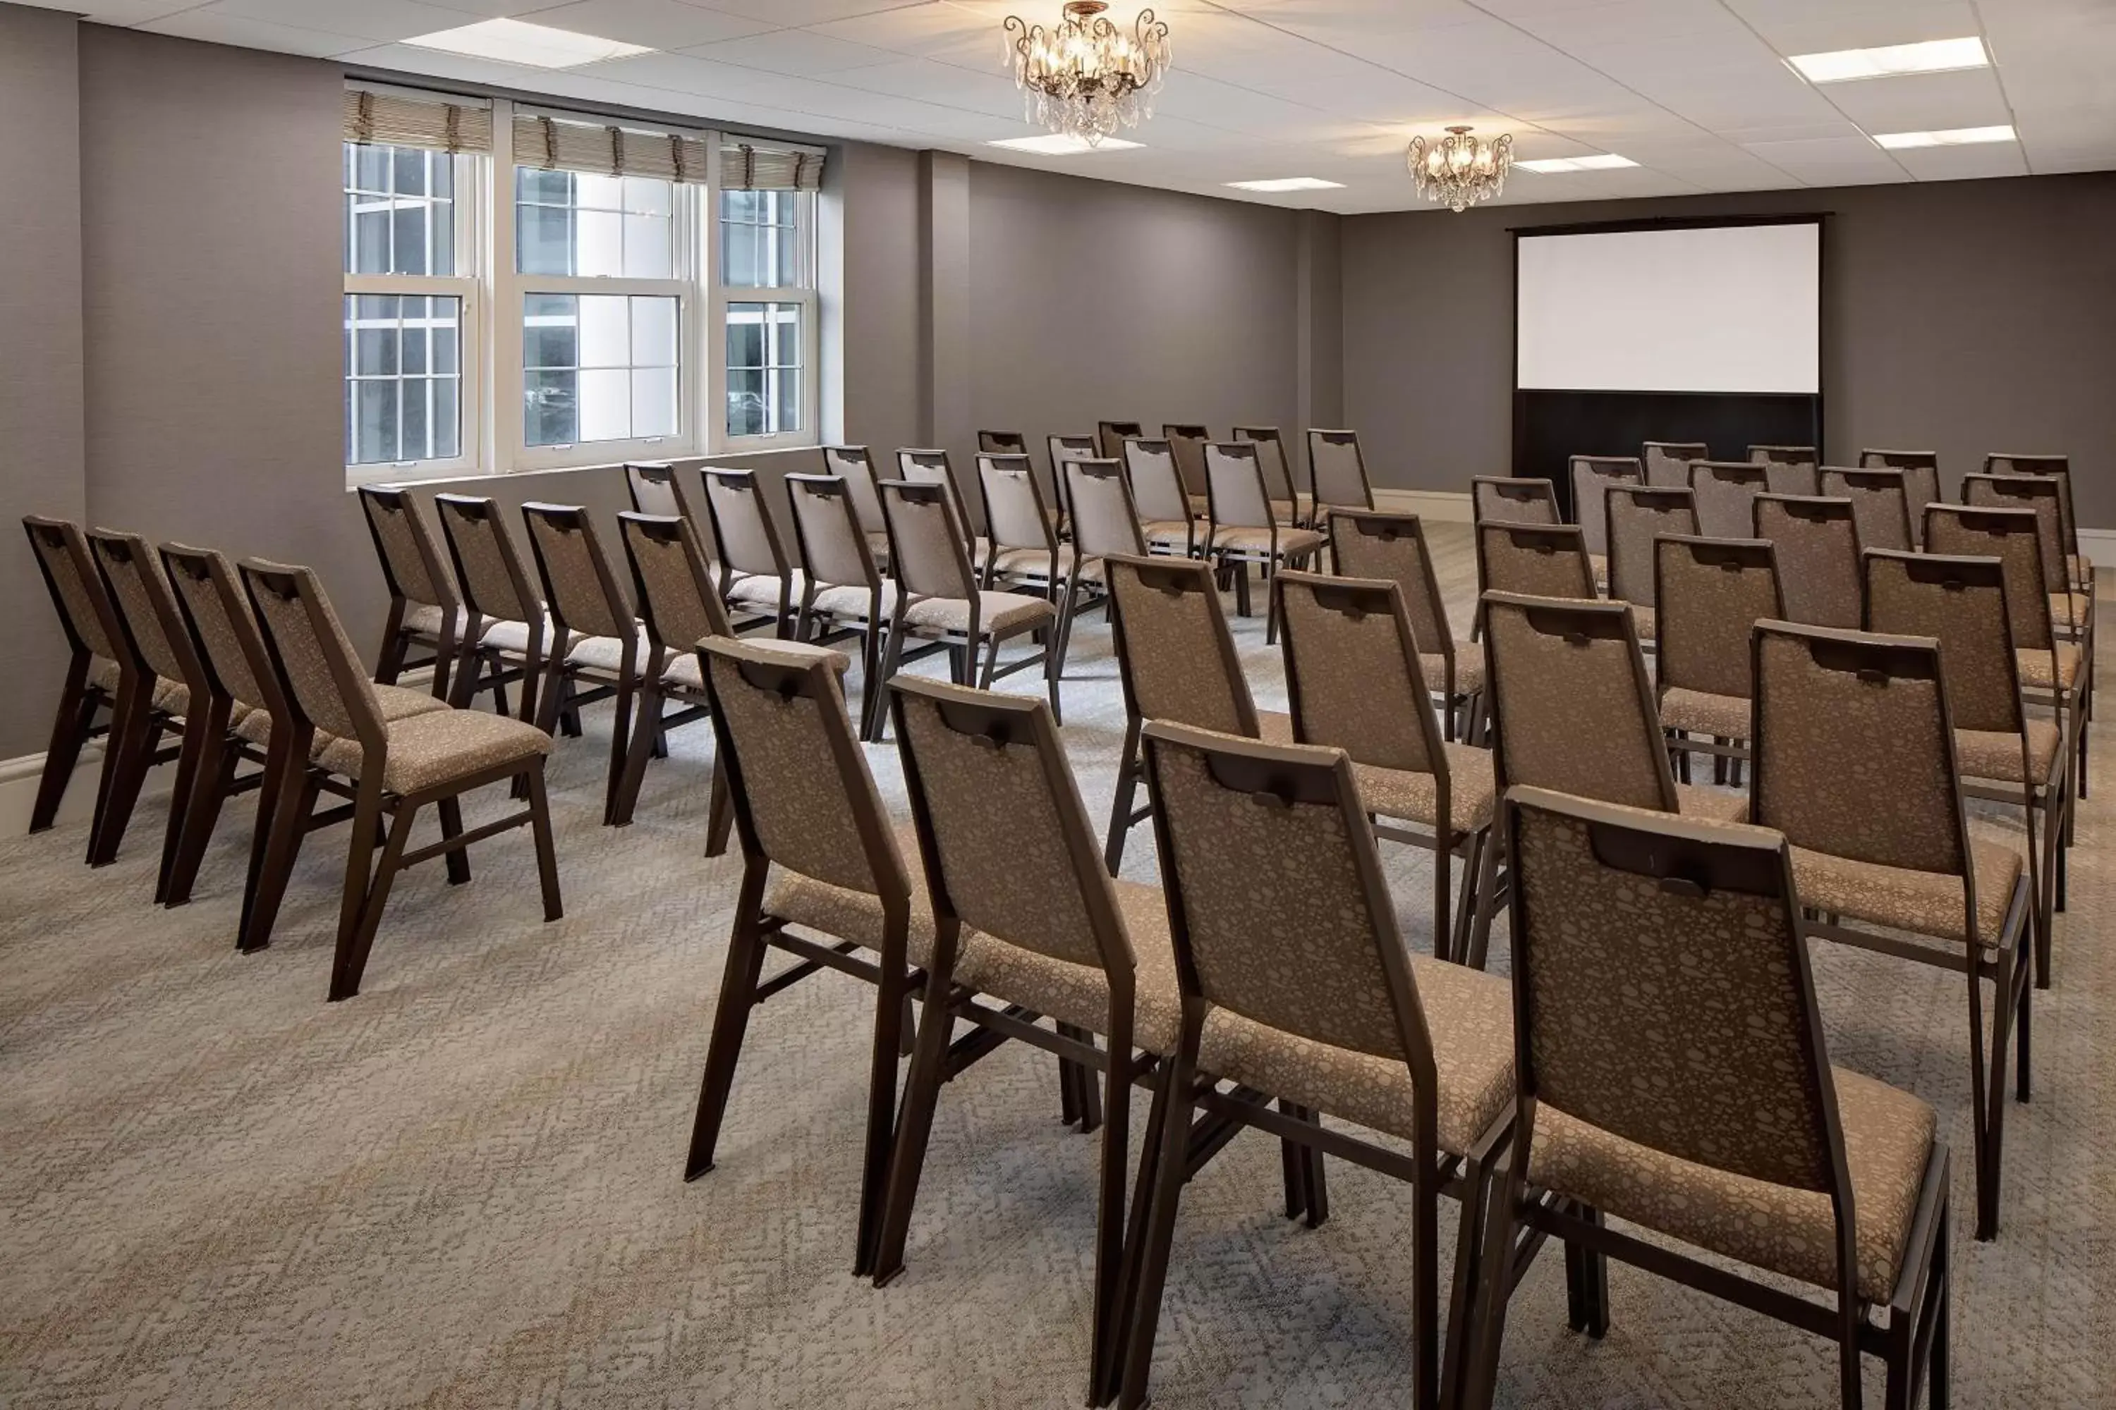
[{"label": "whole second chair from left in the nearest row", "polygon": [[[874,1279],[884,1283],[904,1268],[933,1110],[942,1084],[961,1080],[971,1061],[950,1057],[956,1021],[975,1025],[978,1055],[1007,1038],[1056,1053],[1066,1116],[1077,1114],[1083,1131],[1102,1131],[1088,1393],[1100,1404],[1115,1393],[1121,1344],[1130,1091],[1153,1070],[1155,1053],[1174,1051],[1181,1021],[1162,888],[1113,882],[1102,871],[1041,700],[899,676],[891,708],[933,898],[933,953]],[[1045,1027],[1035,1015],[1054,1023]],[[1096,1046],[1098,1034],[1107,1046]]]}]

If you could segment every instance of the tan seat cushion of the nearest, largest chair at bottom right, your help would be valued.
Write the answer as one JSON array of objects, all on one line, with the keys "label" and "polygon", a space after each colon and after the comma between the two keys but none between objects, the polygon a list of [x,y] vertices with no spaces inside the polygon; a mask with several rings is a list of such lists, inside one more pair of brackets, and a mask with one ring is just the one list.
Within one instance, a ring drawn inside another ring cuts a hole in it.
[{"label": "tan seat cushion of the nearest, largest chair at bottom right", "polygon": [[[1830,1076],[1858,1222],[1858,1294],[1887,1302],[1938,1123],[1930,1106],[1885,1082],[1843,1068]],[[1536,1106],[1528,1180],[1722,1258],[1818,1287],[1837,1285],[1837,1216],[1828,1194],[1684,1161],[1576,1120],[1549,1101]]]}]

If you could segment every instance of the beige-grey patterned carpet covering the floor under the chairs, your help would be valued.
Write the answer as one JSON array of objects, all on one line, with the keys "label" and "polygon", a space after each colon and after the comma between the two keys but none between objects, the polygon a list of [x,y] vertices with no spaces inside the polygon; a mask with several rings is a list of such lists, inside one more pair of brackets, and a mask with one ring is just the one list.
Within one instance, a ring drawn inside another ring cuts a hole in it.
[{"label": "beige-grey patterned carpet covering the floor under the chairs", "polygon": [[[1466,533],[1445,550],[1464,596]],[[1259,702],[1282,704],[1261,621],[1236,634]],[[1098,619],[1066,721],[1100,816],[1121,702]],[[552,767],[567,917],[537,922],[525,833],[480,846],[470,886],[423,867],[349,1004],[324,1004],[343,831],[311,839],[258,956],[233,949],[248,803],[178,911],[148,903],[165,782],[110,869],[80,867],[83,827],[0,843],[0,1404],[1081,1404],[1096,1142],[1058,1125],[1050,1059],[1003,1049],[946,1089],[908,1273],[882,1292],[849,1273],[853,981],[758,1013],[719,1167],[683,1184],[736,882],[700,858],[709,731],[679,731],[639,822],[609,831],[607,710],[586,723]],[[2116,789],[2116,750],[2097,753]],[[901,810],[893,748],[872,759]],[[2057,987],[2036,996],[2036,1099],[2006,1118],[1998,1243],[1970,1241],[1962,979],[1818,953],[1835,1061],[1932,1101],[1955,1146],[1959,1406],[2116,1404],[2103,797],[2080,810]],[[1424,945],[1428,860],[1384,856]],[[1141,829],[1126,873],[1151,860]],[[1409,1201],[1342,1163],[1331,1184],[1325,1228],[1282,1220],[1274,1142],[1248,1133],[1187,1190],[1160,1406],[1407,1402]],[[1452,1237],[1449,1205],[1443,1270]],[[1502,1404],[1835,1404],[1828,1344],[1621,1266],[1615,1325],[1587,1342],[1559,1262],[1517,1296]]]}]

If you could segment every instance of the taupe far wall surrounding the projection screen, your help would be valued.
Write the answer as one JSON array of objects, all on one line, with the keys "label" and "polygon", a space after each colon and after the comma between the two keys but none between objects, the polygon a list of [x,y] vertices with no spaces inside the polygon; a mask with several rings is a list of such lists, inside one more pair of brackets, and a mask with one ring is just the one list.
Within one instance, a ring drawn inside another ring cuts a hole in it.
[{"label": "taupe far wall surrounding the projection screen", "polygon": [[1356,216],[1344,222],[1346,419],[1375,482],[1460,490],[1511,469],[1509,226],[1830,211],[1824,457],[2072,457],[2084,526],[2116,526],[2116,173]]}]

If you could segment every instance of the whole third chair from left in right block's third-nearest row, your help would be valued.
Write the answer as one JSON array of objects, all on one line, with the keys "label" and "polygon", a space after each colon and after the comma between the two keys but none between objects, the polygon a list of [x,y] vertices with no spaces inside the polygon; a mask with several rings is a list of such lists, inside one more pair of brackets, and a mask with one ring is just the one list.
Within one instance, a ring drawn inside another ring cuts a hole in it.
[{"label": "whole third chair from left in right block's third-nearest row", "polygon": [[1761,539],[1691,539],[1663,535],[1653,543],[1653,600],[1661,605],[1655,660],[1661,727],[1684,738],[1682,778],[1691,753],[1712,755],[1712,782],[1741,782],[1748,759],[1748,638],[1758,621],[1786,615],[1777,558]]}]

